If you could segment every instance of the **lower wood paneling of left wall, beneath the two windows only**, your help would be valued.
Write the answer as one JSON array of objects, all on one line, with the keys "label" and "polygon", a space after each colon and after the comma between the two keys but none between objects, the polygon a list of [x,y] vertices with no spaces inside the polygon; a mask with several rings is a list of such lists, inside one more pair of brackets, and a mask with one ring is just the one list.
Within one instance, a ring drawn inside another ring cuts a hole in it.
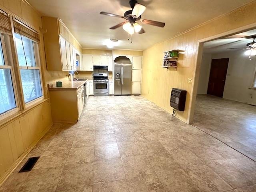
[{"label": "lower wood paneling of left wall, beneath the two windows only", "polygon": [[0,183],[51,126],[50,102],[46,100],[0,127]]}]

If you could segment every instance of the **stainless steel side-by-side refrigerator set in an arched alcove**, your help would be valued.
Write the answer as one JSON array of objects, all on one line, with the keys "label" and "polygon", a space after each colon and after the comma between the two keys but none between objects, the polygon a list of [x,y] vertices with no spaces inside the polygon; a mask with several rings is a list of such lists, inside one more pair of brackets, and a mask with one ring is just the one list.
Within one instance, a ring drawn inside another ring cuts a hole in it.
[{"label": "stainless steel side-by-side refrigerator set in an arched alcove", "polygon": [[130,95],[132,89],[132,62],[124,56],[114,60],[114,95]]}]

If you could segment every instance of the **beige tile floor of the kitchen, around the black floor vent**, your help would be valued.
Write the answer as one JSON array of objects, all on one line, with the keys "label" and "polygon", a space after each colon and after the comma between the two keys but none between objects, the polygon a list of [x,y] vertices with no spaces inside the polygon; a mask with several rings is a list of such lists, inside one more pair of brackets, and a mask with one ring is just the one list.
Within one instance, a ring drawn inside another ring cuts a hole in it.
[{"label": "beige tile floor of the kitchen, around the black floor vent", "polygon": [[[30,156],[33,170],[18,173]],[[256,162],[140,96],[90,97],[27,158],[0,192],[256,191]]]}]

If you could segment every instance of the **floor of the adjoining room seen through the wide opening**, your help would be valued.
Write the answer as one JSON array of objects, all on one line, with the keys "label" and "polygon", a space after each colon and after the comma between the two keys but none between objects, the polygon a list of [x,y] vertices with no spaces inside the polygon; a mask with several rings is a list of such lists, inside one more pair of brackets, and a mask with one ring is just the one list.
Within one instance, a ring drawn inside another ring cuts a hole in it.
[{"label": "floor of the adjoining room seen through the wide opening", "polygon": [[256,106],[198,95],[192,125],[256,161]]}]

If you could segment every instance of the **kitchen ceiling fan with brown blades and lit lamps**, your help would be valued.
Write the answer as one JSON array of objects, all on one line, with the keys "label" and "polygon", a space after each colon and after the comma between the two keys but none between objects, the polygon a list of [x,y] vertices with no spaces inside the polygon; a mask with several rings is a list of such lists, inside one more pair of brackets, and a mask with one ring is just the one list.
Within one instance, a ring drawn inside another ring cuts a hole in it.
[{"label": "kitchen ceiling fan with brown blades and lit lamps", "polygon": [[107,12],[100,12],[100,14],[103,14],[103,15],[123,18],[126,20],[120,24],[110,27],[110,29],[116,29],[120,26],[123,26],[123,29],[126,32],[128,32],[129,34],[134,34],[134,32],[142,34],[145,31],[142,28],[142,26],[138,24],[138,22],[153,25],[153,26],[158,26],[158,27],[165,26],[165,23],[163,23],[163,22],[152,21],[152,20],[147,20],[147,19],[141,18],[142,13],[146,10],[146,6],[139,4],[136,0],[130,0],[129,4],[130,4],[132,10],[126,11],[124,13],[124,16],[107,13]]}]

